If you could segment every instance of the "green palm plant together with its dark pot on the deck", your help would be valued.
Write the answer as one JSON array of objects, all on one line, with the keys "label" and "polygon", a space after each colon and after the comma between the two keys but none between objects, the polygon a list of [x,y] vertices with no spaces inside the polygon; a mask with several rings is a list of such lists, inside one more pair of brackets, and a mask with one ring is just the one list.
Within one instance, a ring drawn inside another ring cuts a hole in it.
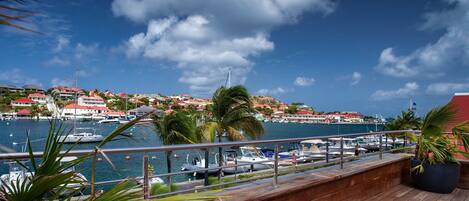
[{"label": "green palm plant together with its dark pot on the deck", "polygon": [[[451,193],[457,185],[460,164],[457,153],[468,157],[469,122],[463,122],[453,128],[448,124],[454,121],[455,110],[451,105],[432,109],[425,115],[420,126],[420,135],[412,138],[416,142],[415,156],[411,159],[411,175],[415,186],[419,189]],[[445,130],[452,132],[445,132]],[[458,143],[464,150],[458,149]]]}]

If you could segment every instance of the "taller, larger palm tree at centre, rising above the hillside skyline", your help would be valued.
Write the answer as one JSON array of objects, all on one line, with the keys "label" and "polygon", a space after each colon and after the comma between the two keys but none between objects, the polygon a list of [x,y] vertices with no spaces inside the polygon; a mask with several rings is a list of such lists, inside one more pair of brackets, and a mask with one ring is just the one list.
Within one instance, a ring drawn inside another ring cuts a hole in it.
[{"label": "taller, larger palm tree at centre, rising above the hillside skyline", "polygon": [[[210,142],[221,143],[223,134],[231,141],[243,140],[246,136],[253,139],[264,133],[264,127],[254,116],[251,96],[243,86],[218,88],[212,97],[211,119],[202,126],[204,138]],[[219,165],[223,165],[222,148],[218,148]],[[219,172],[221,173],[221,172]],[[220,175],[220,174],[219,174]]]}]

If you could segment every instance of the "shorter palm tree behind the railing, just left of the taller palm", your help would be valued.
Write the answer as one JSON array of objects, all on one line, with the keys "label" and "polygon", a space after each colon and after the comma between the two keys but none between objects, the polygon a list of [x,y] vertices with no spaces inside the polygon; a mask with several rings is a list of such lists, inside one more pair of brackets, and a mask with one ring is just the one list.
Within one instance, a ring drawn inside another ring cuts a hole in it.
[{"label": "shorter palm tree behind the railing, just left of the taller palm", "polygon": [[[153,124],[163,145],[194,144],[202,141],[195,116],[187,112],[173,112],[163,118],[154,115]],[[168,173],[171,173],[171,154],[171,151],[166,152]],[[172,190],[171,177],[168,177],[168,180],[168,186]]]}]

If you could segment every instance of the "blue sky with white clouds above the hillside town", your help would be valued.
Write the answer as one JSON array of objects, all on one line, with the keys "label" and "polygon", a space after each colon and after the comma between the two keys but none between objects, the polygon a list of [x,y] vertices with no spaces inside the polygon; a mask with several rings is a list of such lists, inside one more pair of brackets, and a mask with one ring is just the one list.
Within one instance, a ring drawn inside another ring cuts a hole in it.
[{"label": "blue sky with white clouds above the hillside town", "polygon": [[469,91],[467,0],[37,1],[0,27],[0,83],[210,97],[224,85],[317,111],[417,113]]}]

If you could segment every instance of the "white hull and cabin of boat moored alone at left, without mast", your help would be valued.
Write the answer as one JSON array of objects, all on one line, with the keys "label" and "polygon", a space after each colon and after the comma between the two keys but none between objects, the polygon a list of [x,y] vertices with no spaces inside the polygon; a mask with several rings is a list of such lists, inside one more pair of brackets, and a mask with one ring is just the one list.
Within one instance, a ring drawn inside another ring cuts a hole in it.
[{"label": "white hull and cabin of boat moored alone at left, without mast", "polygon": [[101,142],[103,139],[102,135],[95,134],[93,128],[75,128],[72,134],[60,136],[60,141],[64,143]]}]

